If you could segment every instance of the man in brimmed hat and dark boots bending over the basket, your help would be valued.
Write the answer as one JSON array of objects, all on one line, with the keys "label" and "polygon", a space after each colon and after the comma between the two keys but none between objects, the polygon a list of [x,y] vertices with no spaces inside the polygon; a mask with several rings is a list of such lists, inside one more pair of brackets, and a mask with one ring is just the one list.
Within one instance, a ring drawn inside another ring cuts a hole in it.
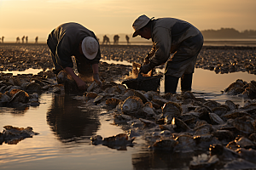
[{"label": "man in brimmed hat and dark boots bending over the basket", "polygon": [[165,93],[175,94],[181,78],[182,91],[191,91],[197,55],[203,45],[201,31],[189,22],[175,18],[149,19],[141,15],[132,25],[138,35],[152,39],[153,47],[144,59],[141,72],[147,74],[155,66],[166,63]]}]

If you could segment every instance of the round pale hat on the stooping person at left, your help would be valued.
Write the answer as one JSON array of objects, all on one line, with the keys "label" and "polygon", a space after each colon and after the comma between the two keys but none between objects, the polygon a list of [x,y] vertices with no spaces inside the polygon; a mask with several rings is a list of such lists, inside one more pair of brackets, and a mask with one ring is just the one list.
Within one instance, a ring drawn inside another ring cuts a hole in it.
[{"label": "round pale hat on the stooping person at left", "polygon": [[84,37],[82,51],[87,59],[94,59],[99,50],[99,44],[94,37]]}]

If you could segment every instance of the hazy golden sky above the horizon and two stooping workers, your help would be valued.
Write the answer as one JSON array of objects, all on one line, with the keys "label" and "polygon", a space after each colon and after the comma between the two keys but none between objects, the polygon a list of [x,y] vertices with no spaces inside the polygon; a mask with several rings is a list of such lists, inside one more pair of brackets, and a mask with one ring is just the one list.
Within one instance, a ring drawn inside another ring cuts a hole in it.
[{"label": "hazy golden sky above the horizon and two stooping workers", "polygon": [[132,34],[138,16],[186,20],[199,30],[256,30],[256,0],[0,0],[0,37],[39,37],[66,22],[78,22],[96,36]]}]

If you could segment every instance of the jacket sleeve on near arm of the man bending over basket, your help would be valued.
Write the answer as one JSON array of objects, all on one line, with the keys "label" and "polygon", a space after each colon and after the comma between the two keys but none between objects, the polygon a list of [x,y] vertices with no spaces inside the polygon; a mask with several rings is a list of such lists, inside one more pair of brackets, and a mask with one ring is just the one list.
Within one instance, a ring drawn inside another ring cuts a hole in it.
[{"label": "jacket sleeve on near arm of the man bending over basket", "polygon": [[164,27],[157,27],[152,32],[152,40],[154,49],[152,48],[153,50],[151,49],[151,52],[154,52],[154,56],[149,65],[154,68],[155,66],[165,63],[167,59],[169,59],[172,45],[171,30]]}]

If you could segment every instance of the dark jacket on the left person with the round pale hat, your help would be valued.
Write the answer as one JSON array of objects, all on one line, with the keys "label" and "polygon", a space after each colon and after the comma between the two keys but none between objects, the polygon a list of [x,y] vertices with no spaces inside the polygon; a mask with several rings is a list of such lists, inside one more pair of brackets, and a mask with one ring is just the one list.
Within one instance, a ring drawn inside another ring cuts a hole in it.
[{"label": "dark jacket on the left person with the round pale hat", "polygon": [[73,67],[72,56],[74,56],[79,63],[85,62],[91,65],[99,63],[101,59],[100,48],[95,59],[87,59],[84,57],[84,54],[80,54],[79,43],[84,37],[94,37],[96,39],[93,31],[73,22],[62,24],[51,31],[47,39],[47,44],[51,52],[55,55],[55,60],[58,65],[61,65],[62,68]]}]

